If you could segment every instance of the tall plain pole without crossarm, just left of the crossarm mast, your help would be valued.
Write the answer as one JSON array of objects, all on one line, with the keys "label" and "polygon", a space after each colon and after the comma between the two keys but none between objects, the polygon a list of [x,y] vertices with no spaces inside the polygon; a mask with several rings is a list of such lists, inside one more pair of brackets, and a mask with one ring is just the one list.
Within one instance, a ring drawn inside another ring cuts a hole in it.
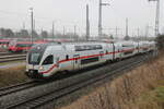
[{"label": "tall plain pole without crossarm, just left of the crossarm mast", "polygon": [[90,12],[89,4],[86,4],[86,40],[90,38]]}]

